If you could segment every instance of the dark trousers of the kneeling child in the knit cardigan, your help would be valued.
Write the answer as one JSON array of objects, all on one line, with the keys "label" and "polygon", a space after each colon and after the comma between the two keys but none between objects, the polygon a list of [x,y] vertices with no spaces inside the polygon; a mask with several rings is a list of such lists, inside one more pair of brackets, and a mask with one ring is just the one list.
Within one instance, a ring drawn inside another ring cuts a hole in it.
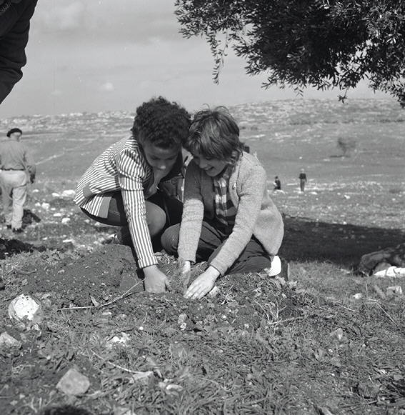
[{"label": "dark trousers of the kneeling child in the knit cardigan", "polygon": [[[179,246],[180,225],[170,226],[161,236],[161,244],[164,250],[171,255],[177,256]],[[201,235],[196,252],[196,261],[207,261],[208,264],[218,255],[221,246],[229,235],[214,224],[203,221]],[[265,251],[261,243],[253,236],[241,252],[238,259],[226,271],[226,274],[241,272],[260,272],[271,267],[271,256]]]}]

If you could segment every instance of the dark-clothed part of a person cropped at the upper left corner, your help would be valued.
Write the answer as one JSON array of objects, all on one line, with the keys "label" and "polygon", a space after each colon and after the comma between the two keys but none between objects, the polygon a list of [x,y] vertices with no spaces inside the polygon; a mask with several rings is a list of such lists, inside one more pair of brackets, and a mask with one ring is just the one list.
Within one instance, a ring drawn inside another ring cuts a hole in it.
[{"label": "dark-clothed part of a person cropped at the upper left corner", "polygon": [[0,0],[0,104],[22,77],[29,21],[38,0]]}]

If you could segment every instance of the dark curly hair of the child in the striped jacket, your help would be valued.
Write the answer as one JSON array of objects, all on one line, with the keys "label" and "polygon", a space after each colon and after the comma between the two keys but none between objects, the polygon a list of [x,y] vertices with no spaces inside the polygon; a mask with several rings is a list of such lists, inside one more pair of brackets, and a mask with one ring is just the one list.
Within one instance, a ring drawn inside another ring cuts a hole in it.
[{"label": "dark curly hair of the child in the striped jacket", "polygon": [[181,148],[189,134],[190,114],[176,102],[162,96],[136,109],[131,131],[140,144],[148,142],[162,149]]}]

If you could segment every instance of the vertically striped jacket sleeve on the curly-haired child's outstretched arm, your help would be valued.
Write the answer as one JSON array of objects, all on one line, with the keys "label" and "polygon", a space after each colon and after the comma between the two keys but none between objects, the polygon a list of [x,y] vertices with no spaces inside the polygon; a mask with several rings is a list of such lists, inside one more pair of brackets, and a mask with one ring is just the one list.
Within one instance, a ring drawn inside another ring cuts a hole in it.
[{"label": "vertically striped jacket sleeve on the curly-haired child's outstretched arm", "polygon": [[133,149],[124,149],[119,154],[116,169],[139,267],[156,265],[156,256],[154,256],[151,236],[146,223],[146,205],[142,184],[146,171],[139,152]]}]

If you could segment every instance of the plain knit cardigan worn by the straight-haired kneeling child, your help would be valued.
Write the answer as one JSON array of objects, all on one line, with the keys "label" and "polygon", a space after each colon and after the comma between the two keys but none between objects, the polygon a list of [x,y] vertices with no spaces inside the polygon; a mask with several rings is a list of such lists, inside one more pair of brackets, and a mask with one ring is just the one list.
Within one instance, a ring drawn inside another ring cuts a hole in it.
[{"label": "plain knit cardigan worn by the straight-haired kneeling child", "polygon": [[[181,260],[196,261],[202,221],[216,215],[213,181],[191,161],[186,171],[180,226]],[[244,152],[236,162],[229,178],[229,196],[236,208],[234,229],[210,264],[221,275],[238,259],[252,235],[272,256],[279,251],[284,235],[283,219],[267,190],[266,171],[256,157]]]}]

